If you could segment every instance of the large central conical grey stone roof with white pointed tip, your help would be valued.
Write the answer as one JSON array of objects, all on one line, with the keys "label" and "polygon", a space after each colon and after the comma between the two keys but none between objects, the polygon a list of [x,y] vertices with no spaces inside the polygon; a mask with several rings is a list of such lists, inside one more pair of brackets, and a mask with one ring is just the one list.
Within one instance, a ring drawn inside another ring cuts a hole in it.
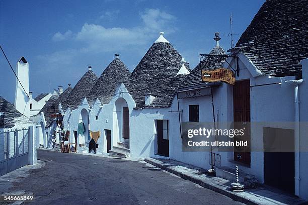
[{"label": "large central conical grey stone roof with white pointed tip", "polygon": [[[129,79],[124,82],[136,102],[135,109],[169,107],[177,87],[184,79],[182,74],[177,76],[182,67],[182,56],[169,41],[163,38],[162,33],[160,35],[160,38],[145,53]],[[185,67],[190,71],[187,62],[185,62]],[[166,90],[164,86],[168,86],[172,82],[173,86],[169,86]],[[155,100],[151,106],[146,106],[144,95],[148,92],[156,93],[157,99],[162,100]]]}]

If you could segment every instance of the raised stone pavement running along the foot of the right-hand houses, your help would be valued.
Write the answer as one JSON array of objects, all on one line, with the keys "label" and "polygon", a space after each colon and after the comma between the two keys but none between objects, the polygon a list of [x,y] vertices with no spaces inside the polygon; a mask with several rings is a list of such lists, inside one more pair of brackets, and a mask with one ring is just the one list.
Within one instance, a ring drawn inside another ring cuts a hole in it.
[{"label": "raised stone pavement running along the foot of the right-hand houses", "polygon": [[160,158],[145,158],[144,161],[246,204],[301,204],[305,202],[296,196],[287,195],[278,189],[266,186],[247,189],[239,193],[233,192],[230,187],[233,181],[210,176],[207,170],[183,162]]}]

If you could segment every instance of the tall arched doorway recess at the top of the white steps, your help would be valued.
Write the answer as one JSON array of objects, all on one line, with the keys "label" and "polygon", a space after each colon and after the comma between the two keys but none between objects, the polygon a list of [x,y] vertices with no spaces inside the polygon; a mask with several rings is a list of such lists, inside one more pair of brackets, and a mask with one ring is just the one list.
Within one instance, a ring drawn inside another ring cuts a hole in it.
[{"label": "tall arched doorway recess at the top of the white steps", "polygon": [[121,142],[129,147],[129,110],[124,98],[118,98],[115,102],[114,127],[113,144],[117,145],[118,142]]}]

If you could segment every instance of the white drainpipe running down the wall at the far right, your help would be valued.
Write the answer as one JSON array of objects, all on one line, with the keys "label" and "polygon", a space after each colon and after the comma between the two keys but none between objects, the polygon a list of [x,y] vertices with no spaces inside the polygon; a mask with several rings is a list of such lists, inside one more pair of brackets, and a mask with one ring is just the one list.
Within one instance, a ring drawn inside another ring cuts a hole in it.
[{"label": "white drainpipe running down the wall at the far right", "polygon": [[302,83],[302,79],[299,80],[286,80],[287,84],[294,85],[294,138],[295,138],[295,195],[300,197],[300,137],[299,137],[299,85]]}]

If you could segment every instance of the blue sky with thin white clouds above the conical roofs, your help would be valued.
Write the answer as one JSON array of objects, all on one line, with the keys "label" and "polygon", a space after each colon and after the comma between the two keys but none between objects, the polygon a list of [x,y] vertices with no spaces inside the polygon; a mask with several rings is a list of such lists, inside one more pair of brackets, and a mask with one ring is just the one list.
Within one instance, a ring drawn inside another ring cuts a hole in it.
[{"label": "blue sky with thin white clouds above the conical roofs", "polygon": [[[0,1],[0,44],[13,68],[25,56],[30,91],[36,96],[58,85],[74,85],[91,65],[99,76],[119,53],[132,71],[152,43],[165,38],[191,67],[215,45],[230,48],[229,17],[235,43],[264,0],[254,1]],[[15,76],[0,55],[0,95],[14,102]]]}]

